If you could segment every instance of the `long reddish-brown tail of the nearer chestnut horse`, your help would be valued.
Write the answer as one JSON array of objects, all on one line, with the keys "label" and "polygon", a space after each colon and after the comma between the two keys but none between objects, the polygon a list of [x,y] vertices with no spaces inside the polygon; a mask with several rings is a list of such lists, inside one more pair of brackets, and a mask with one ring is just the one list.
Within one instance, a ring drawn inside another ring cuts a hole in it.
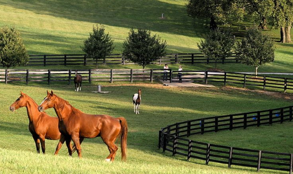
[{"label": "long reddish-brown tail of the nearer chestnut horse", "polygon": [[121,146],[121,160],[126,161],[128,126],[127,121],[124,117],[118,117],[118,119],[120,120],[121,125],[121,130],[119,133]]}]

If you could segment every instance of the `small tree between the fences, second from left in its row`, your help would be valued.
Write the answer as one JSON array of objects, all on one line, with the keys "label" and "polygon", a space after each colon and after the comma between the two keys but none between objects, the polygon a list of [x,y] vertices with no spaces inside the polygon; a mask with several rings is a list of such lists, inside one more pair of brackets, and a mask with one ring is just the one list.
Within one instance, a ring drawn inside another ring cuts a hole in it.
[{"label": "small tree between the fences, second from left in its row", "polygon": [[96,60],[98,68],[98,59],[105,59],[112,53],[114,46],[109,33],[105,33],[104,26],[93,26],[93,32],[89,33],[89,38],[84,41],[84,48],[81,48],[88,58]]}]

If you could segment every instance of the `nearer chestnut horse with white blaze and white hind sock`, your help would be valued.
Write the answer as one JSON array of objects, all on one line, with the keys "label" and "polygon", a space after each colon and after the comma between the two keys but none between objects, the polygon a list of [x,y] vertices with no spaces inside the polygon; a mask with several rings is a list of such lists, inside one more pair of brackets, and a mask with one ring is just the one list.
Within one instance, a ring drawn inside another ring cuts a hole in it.
[{"label": "nearer chestnut horse with white blaze and white hind sock", "polygon": [[[118,147],[115,145],[117,137],[120,137],[121,159],[126,160],[127,149],[127,122],[123,117],[114,118],[109,115],[91,115],[85,114],[74,108],[66,100],[49,93],[39,106],[39,111],[43,112],[48,108],[54,108],[59,118],[59,131],[67,139],[72,139],[76,147],[79,158],[81,158],[80,141],[82,138],[95,138],[101,136],[102,140],[109,149],[109,156],[106,161],[114,161]],[[61,139],[56,147],[64,143]]]}]

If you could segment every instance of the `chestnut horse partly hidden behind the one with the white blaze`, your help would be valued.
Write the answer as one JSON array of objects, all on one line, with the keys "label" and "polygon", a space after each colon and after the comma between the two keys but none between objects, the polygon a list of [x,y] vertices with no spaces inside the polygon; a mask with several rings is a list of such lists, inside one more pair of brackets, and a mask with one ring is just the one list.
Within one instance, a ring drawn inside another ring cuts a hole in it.
[{"label": "chestnut horse partly hidden behind the one with the white blaze", "polygon": [[[16,101],[11,104],[10,110],[19,109],[21,107],[26,107],[27,115],[29,117],[29,131],[31,132],[34,141],[36,143],[36,150],[40,153],[40,142],[42,147],[42,152],[45,153],[45,139],[49,140],[59,140],[60,132],[58,129],[58,118],[51,117],[45,112],[39,112],[38,104],[29,97],[27,94],[21,92],[21,96],[16,99]],[[71,144],[70,141],[66,142],[68,147],[69,155],[71,155]]]}]

